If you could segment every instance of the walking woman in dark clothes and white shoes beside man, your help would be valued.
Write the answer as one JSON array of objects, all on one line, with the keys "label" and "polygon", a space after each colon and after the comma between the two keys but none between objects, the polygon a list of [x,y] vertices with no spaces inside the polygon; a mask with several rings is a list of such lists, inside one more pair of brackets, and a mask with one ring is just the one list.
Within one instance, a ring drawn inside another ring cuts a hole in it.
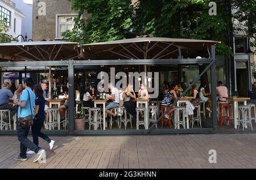
[{"label": "walking woman in dark clothes and white shoes beside man", "polygon": [[[34,86],[34,93],[36,95],[35,99],[35,118],[33,120],[32,125],[32,137],[33,142],[35,145],[39,145],[38,137],[41,137],[42,139],[46,140],[47,143],[49,143],[50,149],[52,150],[53,144],[55,141],[49,139],[48,136],[44,135],[44,133],[41,132],[41,128],[44,124],[44,119],[46,118],[45,112],[44,112],[44,106],[46,104],[46,101],[44,100],[44,94],[43,89],[40,85]],[[27,154],[34,154],[32,150],[28,151]]]}]

